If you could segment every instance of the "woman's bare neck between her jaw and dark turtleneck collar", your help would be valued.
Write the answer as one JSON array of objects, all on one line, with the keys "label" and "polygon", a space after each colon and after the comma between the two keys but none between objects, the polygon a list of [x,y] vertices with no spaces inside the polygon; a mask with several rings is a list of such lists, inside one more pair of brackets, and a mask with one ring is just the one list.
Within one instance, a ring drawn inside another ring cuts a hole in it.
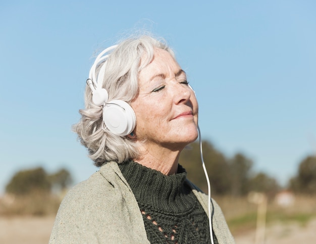
[{"label": "woman's bare neck between her jaw and dark turtleneck collar", "polygon": [[170,149],[162,145],[141,145],[140,157],[134,159],[135,162],[162,172],[165,175],[177,173],[178,160],[182,149]]}]

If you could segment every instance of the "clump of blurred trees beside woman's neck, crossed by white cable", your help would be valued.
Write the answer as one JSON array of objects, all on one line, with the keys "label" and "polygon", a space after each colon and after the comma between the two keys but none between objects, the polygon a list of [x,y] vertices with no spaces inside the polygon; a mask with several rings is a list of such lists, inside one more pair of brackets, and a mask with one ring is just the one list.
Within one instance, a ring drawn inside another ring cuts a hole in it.
[{"label": "clump of blurred trees beside woman's neck, crossed by white cable", "polygon": [[[232,159],[227,159],[208,141],[202,142],[202,149],[212,194],[244,196],[250,190],[270,193],[279,188],[277,181],[265,173],[252,176],[253,162],[245,155],[237,153]],[[188,178],[206,192],[199,142],[195,141],[183,150],[179,162],[187,170]]]}]

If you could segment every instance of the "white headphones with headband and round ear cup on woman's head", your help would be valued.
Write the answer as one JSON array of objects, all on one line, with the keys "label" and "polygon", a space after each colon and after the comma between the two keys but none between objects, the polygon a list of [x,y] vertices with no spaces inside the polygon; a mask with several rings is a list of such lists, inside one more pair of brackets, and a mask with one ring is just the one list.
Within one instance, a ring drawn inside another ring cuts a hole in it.
[{"label": "white headphones with headband and round ear cup on woman's head", "polygon": [[[110,46],[96,57],[89,72],[87,85],[92,90],[92,102],[96,106],[103,108],[102,129],[108,129],[116,135],[126,136],[132,133],[136,126],[136,115],[132,107],[123,100],[112,100],[108,102],[108,91],[102,88],[104,73],[106,72],[106,63],[110,55],[107,53],[116,47],[117,45]],[[96,69],[100,65],[101,68],[96,76]]]}]

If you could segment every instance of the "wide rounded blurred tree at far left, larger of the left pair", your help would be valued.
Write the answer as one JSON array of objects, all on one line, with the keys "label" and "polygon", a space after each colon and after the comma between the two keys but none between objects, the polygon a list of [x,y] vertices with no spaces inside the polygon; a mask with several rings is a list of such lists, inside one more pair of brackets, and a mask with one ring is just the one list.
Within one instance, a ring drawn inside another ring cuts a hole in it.
[{"label": "wide rounded blurred tree at far left, larger of the left pair", "polygon": [[50,191],[50,183],[47,180],[46,172],[43,168],[22,170],[17,172],[6,186],[8,193],[17,195],[29,194],[32,191]]}]

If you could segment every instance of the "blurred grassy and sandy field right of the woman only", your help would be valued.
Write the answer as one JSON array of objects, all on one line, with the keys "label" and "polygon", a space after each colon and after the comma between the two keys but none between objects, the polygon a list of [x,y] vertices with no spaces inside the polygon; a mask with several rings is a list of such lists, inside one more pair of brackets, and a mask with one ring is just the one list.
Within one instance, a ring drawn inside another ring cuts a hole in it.
[{"label": "blurred grassy and sandy field right of the woman only", "polygon": [[[216,197],[237,244],[255,243],[257,205],[247,198]],[[315,243],[316,197],[295,196],[288,206],[268,200],[265,243]]]}]

